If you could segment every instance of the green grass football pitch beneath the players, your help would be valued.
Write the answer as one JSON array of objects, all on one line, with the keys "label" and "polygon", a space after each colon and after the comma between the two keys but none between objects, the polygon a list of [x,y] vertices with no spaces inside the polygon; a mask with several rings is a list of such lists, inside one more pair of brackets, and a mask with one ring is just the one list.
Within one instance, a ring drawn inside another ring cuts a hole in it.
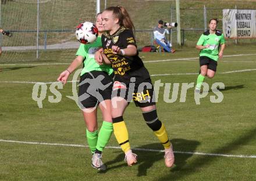
[{"label": "green grass football pitch beneath the players", "polygon": [[[153,82],[180,84],[176,102],[164,102],[160,88],[157,103],[158,117],[173,143],[175,166],[165,167],[163,153],[154,151],[162,150],[161,144],[131,103],[124,118],[138,164],[128,167],[123,162],[124,154],[112,135],[103,155],[106,172],[93,169],[88,147],[80,146],[87,145],[85,125],[76,103],[66,97],[72,96],[71,83],[58,90],[59,103],[48,102],[53,95],[50,84],[42,108],[32,99],[34,84],[29,82],[56,81],[68,65],[54,63],[74,58],[74,51],[65,53],[45,52],[41,61],[33,62],[26,62],[29,55],[24,54],[22,63],[0,64],[0,180],[255,180],[255,45],[227,46],[216,76],[205,79],[210,87],[214,82],[225,84],[223,101],[211,103],[215,94],[209,92],[200,105],[195,104],[193,88],[186,102],[179,102],[181,84],[196,81],[196,74],[186,73],[198,72],[197,50],[140,53]],[[98,120],[100,126],[101,114]]]}]

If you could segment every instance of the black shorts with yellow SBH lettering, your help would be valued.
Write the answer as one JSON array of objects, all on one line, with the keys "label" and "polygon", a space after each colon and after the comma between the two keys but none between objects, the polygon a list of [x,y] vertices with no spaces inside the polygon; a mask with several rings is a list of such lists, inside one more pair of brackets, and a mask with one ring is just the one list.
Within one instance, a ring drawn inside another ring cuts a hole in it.
[{"label": "black shorts with yellow SBH lettering", "polygon": [[112,97],[122,97],[128,103],[134,101],[137,107],[155,105],[154,86],[150,78],[145,79],[141,84],[131,84],[127,86],[121,82],[115,81]]}]

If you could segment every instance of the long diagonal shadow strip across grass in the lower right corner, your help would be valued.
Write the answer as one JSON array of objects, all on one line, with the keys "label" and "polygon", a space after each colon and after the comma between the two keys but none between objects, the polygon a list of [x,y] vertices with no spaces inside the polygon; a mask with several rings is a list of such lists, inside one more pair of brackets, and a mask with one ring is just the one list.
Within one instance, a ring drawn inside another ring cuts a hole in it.
[{"label": "long diagonal shadow strip across grass in the lower right corner", "polygon": [[[256,139],[256,128],[251,129],[243,136],[239,136],[237,139],[233,140],[233,142],[226,144],[225,146],[220,147],[219,149],[212,150],[212,153],[215,154],[228,154],[230,151],[239,149],[242,144],[247,144],[250,140]],[[189,150],[190,151],[190,150]],[[192,151],[191,151],[192,152]],[[176,154],[177,155],[177,154]],[[184,156],[184,154],[180,154]],[[179,162],[180,157],[176,157],[176,161]],[[162,180],[183,180],[184,177],[194,174],[198,171],[198,169],[203,168],[206,165],[211,164],[212,161],[218,159],[216,156],[209,155],[200,155],[200,157],[196,158],[189,165],[184,165],[183,168],[179,168],[179,174],[175,173],[175,168],[170,169],[170,173],[166,174],[162,178],[159,178],[159,181]]]}]

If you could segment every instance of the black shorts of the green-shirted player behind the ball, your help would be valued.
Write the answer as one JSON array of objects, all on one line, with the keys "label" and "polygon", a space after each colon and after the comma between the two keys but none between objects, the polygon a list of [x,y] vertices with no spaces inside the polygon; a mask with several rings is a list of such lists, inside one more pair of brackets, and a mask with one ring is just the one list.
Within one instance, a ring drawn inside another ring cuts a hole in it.
[{"label": "black shorts of the green-shirted player behind the ball", "polygon": [[80,77],[79,106],[95,107],[103,100],[111,100],[113,79],[104,71],[91,71]]}]

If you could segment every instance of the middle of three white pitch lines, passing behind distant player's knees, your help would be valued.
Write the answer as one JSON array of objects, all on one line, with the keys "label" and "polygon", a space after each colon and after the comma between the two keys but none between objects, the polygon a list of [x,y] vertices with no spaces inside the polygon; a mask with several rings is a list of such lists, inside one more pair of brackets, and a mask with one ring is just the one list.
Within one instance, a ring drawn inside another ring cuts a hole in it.
[{"label": "middle of three white pitch lines, passing behind distant player's knees", "polygon": [[[223,73],[218,73],[218,74],[230,74],[230,73],[241,73],[241,72],[246,72],[246,71],[255,71],[256,69],[246,69],[246,70],[234,70],[234,71],[227,71]],[[198,73],[177,73],[177,74],[152,74],[150,75],[151,77],[155,76],[167,76],[167,75],[197,75]],[[79,81],[67,81],[68,83],[70,82],[79,82]],[[0,83],[18,83],[18,84],[52,84],[52,83],[57,83],[57,82],[20,82],[20,81],[0,81]]]}]

